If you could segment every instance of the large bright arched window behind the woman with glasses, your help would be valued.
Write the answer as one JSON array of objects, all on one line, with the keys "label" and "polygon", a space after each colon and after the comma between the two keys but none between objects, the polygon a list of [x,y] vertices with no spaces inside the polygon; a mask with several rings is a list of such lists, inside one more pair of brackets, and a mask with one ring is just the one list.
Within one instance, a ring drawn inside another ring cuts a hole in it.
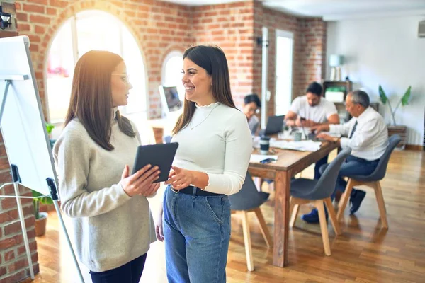
[{"label": "large bright arched window behind the woman with glasses", "polygon": [[130,82],[128,105],[123,114],[146,117],[145,64],[135,38],[125,25],[103,11],[83,11],[69,18],[58,30],[47,58],[47,99],[50,121],[63,122],[69,105],[72,75],[79,57],[90,50],[107,50],[123,57]]}]

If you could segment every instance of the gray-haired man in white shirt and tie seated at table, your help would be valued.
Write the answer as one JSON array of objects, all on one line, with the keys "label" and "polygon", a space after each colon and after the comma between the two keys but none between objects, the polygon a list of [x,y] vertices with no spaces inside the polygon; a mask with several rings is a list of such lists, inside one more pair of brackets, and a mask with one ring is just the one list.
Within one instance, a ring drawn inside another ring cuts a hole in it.
[{"label": "gray-haired man in white shirt and tie seated at table", "polygon": [[[353,118],[344,125],[318,125],[312,127],[319,139],[334,141],[342,149],[351,148],[351,155],[346,158],[336,180],[336,190],[344,192],[347,185],[344,177],[353,175],[370,175],[378,166],[379,159],[388,146],[387,125],[382,116],[370,107],[369,96],[364,91],[353,91],[346,97],[346,110]],[[320,133],[329,131],[331,134],[341,134],[347,137],[331,137]],[[334,192],[334,194],[335,194]],[[357,212],[366,193],[363,190],[351,192],[351,214]],[[331,196],[332,200],[334,195]],[[308,223],[319,223],[317,209],[301,217]]]}]

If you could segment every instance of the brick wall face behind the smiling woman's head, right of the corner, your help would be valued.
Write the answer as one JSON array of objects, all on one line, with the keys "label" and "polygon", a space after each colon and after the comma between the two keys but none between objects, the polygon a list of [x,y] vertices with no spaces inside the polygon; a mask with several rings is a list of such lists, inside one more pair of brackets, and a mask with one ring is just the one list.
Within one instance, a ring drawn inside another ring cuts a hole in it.
[{"label": "brick wall face behind the smiling woman's head, right of the corner", "polygon": [[192,32],[196,44],[222,48],[229,64],[234,103],[254,88],[254,2],[197,6],[192,8]]}]

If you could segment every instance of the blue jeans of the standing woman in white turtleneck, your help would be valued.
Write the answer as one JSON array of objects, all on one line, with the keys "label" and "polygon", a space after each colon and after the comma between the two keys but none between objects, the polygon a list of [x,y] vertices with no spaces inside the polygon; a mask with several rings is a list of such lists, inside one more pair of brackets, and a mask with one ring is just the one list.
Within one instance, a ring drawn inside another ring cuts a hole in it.
[{"label": "blue jeans of the standing woman in white turtleneck", "polygon": [[175,193],[169,186],[164,193],[163,223],[170,283],[226,282],[229,197]]}]

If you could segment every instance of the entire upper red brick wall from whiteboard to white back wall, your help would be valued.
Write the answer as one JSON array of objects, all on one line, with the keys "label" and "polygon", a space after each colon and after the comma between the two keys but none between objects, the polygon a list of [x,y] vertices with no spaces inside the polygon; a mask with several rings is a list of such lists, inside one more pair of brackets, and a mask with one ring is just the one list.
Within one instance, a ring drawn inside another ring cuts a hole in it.
[{"label": "entire upper red brick wall from whiteboard to white back wall", "polygon": [[[17,0],[18,30],[30,36],[31,52],[38,87],[45,108],[43,70],[48,47],[57,28],[70,16],[86,9],[98,9],[117,16],[135,35],[145,56],[148,74],[149,117],[159,117],[157,86],[166,53],[184,50],[192,44],[216,44],[227,54],[232,93],[237,106],[247,93],[261,93],[261,47],[256,37],[269,28],[268,89],[271,91],[269,114],[274,112],[276,50],[275,30],[295,35],[293,96],[304,93],[310,81],[321,81],[326,57],[326,25],[317,18],[297,18],[263,8],[259,1],[186,7],[157,0]],[[47,112],[45,111],[45,114]]]}]

